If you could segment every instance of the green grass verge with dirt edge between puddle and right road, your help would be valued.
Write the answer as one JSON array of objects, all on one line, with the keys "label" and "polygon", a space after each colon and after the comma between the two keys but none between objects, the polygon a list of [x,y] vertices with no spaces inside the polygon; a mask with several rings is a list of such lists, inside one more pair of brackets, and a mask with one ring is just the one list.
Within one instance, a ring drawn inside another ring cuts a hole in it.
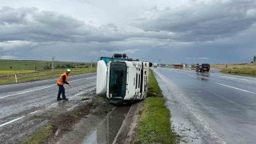
[{"label": "green grass verge with dirt edge between puddle and right road", "polygon": [[131,106],[114,143],[176,143],[170,110],[154,73],[150,73],[148,98]]}]

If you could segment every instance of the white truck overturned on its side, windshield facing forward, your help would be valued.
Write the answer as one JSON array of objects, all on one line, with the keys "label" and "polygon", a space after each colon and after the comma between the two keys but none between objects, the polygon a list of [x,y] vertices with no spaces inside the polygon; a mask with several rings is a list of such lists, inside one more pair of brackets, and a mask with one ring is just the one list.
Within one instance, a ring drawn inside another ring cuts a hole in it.
[{"label": "white truck overturned on its side, windshield facing forward", "polygon": [[97,66],[96,94],[106,94],[110,103],[146,98],[151,66],[150,62],[134,60],[126,54],[101,57]]}]

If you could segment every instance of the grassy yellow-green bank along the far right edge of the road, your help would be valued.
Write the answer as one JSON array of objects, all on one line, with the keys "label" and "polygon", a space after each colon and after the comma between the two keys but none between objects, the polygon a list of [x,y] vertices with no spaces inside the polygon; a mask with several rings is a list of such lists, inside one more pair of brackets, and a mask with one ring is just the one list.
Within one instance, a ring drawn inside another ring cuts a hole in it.
[{"label": "grassy yellow-green bank along the far right edge of the road", "polygon": [[[227,67],[226,67],[227,66]],[[211,65],[211,68],[218,68],[222,73],[238,74],[256,77],[256,64],[255,63],[242,63],[242,64],[219,64]]]}]

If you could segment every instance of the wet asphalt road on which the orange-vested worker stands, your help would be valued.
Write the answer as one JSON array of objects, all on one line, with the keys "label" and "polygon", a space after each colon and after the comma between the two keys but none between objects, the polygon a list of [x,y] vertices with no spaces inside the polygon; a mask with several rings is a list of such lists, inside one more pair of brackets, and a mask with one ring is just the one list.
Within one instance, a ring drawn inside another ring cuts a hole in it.
[{"label": "wet asphalt road on which the orange-vested worker stands", "polygon": [[70,76],[74,87],[66,87],[68,102],[57,102],[57,78],[0,86],[0,143],[21,143],[46,122],[33,115],[54,111],[58,114],[78,106],[81,95],[94,94],[96,73]]}]

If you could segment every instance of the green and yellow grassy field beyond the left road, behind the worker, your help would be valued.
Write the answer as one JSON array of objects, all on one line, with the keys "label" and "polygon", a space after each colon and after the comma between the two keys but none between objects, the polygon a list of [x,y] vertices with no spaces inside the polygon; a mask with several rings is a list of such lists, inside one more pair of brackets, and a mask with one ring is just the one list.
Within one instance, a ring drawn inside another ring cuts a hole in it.
[{"label": "green and yellow grassy field beyond the left road, behind the worker", "polygon": [[[90,68],[89,63],[82,62],[55,62],[54,66],[65,66],[71,69],[70,75],[86,74],[96,72],[96,68]],[[50,66],[49,64],[47,64]],[[12,84],[15,82],[15,74],[18,83],[37,81],[48,78],[58,78],[66,68],[58,68],[54,71],[46,69],[46,63],[42,61],[18,61],[0,60],[0,85]],[[95,64],[94,64],[95,65]],[[12,68],[10,69],[10,66]],[[34,69],[37,66],[37,69]],[[69,67],[70,66],[70,67]],[[72,68],[75,67],[75,68]],[[79,68],[82,67],[82,68]]]}]

